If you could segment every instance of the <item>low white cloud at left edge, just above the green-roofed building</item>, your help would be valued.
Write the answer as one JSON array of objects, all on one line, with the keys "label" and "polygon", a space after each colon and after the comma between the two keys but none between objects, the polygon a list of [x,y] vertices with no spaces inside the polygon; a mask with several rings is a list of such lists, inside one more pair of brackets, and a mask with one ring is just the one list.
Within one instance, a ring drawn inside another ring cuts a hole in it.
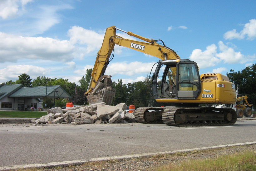
[{"label": "low white cloud at left edge, just above the green-roofed building", "polygon": [[0,69],[0,82],[16,81],[19,79],[18,76],[23,73],[35,79],[39,75],[49,74],[50,70],[33,65],[9,65],[6,68]]}]

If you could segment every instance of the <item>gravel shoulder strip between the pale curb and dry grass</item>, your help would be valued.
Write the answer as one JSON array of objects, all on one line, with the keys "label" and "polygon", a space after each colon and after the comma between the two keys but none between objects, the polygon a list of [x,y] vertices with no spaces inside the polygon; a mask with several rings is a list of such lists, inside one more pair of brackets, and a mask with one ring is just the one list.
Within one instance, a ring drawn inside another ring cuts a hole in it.
[{"label": "gravel shoulder strip between the pale curb and dry grass", "polygon": [[235,154],[244,151],[256,152],[256,144],[231,146],[218,149],[196,150],[188,153],[155,155],[150,157],[142,157],[127,160],[121,159],[88,162],[78,166],[57,167],[48,169],[45,168],[43,169],[43,171],[154,171],[156,170],[157,167],[163,164],[168,164],[170,162],[180,164],[181,162],[187,161],[189,159],[213,159],[219,155]]}]

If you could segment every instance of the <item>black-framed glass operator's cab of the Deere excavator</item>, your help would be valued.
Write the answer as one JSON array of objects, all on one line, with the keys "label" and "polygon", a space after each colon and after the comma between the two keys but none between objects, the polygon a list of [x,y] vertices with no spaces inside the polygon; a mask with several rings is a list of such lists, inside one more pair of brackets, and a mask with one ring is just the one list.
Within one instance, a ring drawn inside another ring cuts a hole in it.
[{"label": "black-framed glass operator's cab of the Deere excavator", "polygon": [[188,59],[160,61],[152,89],[155,99],[196,99],[201,90],[197,64]]}]

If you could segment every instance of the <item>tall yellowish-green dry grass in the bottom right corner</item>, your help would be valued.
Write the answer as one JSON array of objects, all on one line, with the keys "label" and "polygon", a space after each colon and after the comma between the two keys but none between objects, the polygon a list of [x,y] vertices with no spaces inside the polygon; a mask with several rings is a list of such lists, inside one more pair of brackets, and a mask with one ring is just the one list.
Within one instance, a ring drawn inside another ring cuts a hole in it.
[{"label": "tall yellowish-green dry grass in the bottom right corner", "polygon": [[163,165],[157,171],[250,171],[256,170],[256,153],[222,155],[216,159],[191,159],[181,164]]}]

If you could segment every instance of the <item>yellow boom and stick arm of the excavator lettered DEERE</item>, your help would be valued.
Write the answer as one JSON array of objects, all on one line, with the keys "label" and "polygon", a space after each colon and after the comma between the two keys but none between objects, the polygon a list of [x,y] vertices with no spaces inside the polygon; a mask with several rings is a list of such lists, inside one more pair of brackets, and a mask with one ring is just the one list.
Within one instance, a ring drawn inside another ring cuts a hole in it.
[{"label": "yellow boom and stick arm of the excavator lettered DEERE", "polygon": [[145,42],[129,40],[129,39],[125,39],[123,37],[117,36],[116,30],[125,32],[121,29],[116,28],[115,26],[108,27],[106,29],[106,33],[105,33],[105,37],[103,39],[101,49],[97,53],[94,68],[91,73],[90,84],[85,93],[85,95],[87,97],[88,97],[88,95],[91,95],[91,92],[96,87],[96,85],[103,78],[106,77],[106,76],[104,76],[104,73],[106,71],[106,67],[107,67],[109,61],[111,61],[111,54],[112,54],[112,51],[113,51],[115,45],[127,47],[127,48],[133,49],[135,51],[140,51],[142,53],[158,57],[160,60],[180,59],[180,57],[176,54],[176,52],[174,50],[170,49],[167,46],[159,45],[156,42],[156,41],[160,41],[160,40],[148,39],[148,38],[136,35],[132,32],[125,32],[128,35],[130,35],[132,37],[136,37],[138,39],[141,39]]}]

